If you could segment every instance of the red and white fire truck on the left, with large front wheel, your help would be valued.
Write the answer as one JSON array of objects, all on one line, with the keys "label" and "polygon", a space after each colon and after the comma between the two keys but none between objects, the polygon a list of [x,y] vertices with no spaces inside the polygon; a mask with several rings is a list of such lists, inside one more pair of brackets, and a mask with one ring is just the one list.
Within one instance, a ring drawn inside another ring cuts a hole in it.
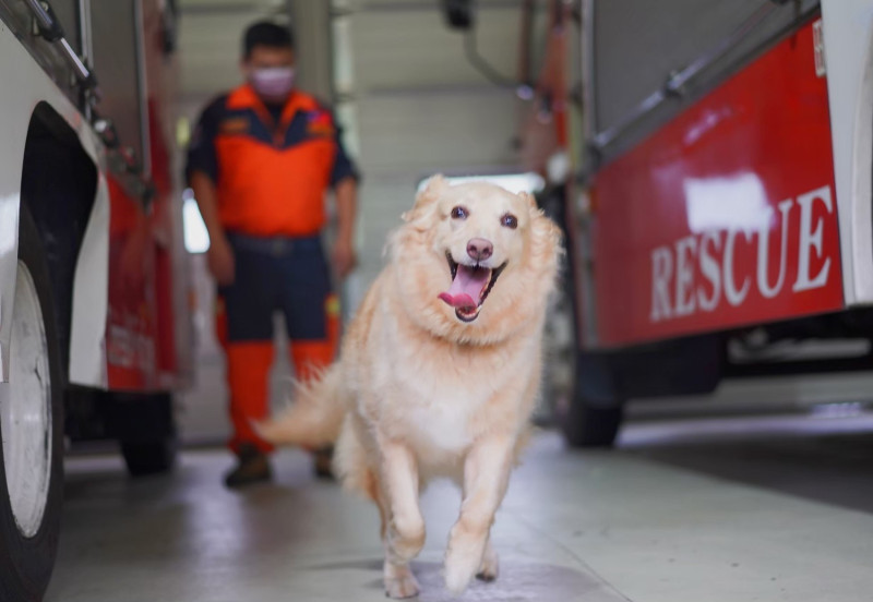
[{"label": "red and white fire truck on the left, with large front wheel", "polygon": [[175,453],[190,372],[168,0],[0,0],[0,599],[38,600],[65,441]]}]

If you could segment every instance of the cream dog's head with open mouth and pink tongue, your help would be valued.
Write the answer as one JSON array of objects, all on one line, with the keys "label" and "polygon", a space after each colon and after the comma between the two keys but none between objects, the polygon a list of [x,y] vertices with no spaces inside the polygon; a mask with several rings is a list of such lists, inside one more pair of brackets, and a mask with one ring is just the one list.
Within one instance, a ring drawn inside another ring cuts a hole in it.
[{"label": "cream dog's head with open mouth and pink tongue", "polygon": [[560,231],[527,194],[434,177],[404,216],[392,261],[410,316],[454,340],[505,338],[545,313]]}]

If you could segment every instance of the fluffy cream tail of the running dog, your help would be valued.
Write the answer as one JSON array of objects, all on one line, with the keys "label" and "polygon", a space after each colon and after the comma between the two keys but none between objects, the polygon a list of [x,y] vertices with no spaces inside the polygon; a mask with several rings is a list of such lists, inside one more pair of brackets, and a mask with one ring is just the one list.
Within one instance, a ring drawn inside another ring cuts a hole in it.
[{"label": "fluffy cream tail of the running dog", "polygon": [[336,442],[345,414],[339,364],[336,363],[308,383],[295,383],[294,404],[254,426],[270,443],[318,449]]}]

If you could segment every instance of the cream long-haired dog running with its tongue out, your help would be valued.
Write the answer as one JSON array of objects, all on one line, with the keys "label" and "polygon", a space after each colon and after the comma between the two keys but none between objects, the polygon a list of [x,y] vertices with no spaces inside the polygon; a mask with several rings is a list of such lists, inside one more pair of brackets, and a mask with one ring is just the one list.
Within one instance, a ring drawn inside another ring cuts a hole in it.
[{"label": "cream long-haired dog running with its tongue out", "polygon": [[336,442],[337,474],[379,506],[392,598],[418,593],[420,490],[457,482],[445,583],[458,594],[498,576],[489,532],[537,397],[560,230],[527,194],[441,176],[404,221],[339,361],[260,430],[275,443]]}]

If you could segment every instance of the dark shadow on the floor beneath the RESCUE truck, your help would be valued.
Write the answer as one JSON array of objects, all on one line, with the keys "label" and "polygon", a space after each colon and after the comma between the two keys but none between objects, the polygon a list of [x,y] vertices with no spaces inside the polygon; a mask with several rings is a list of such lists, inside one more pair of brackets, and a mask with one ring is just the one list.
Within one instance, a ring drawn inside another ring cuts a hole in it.
[{"label": "dark shadow on the floor beneath the RESCUE truck", "polygon": [[873,514],[870,417],[756,417],[631,424],[621,452]]}]

